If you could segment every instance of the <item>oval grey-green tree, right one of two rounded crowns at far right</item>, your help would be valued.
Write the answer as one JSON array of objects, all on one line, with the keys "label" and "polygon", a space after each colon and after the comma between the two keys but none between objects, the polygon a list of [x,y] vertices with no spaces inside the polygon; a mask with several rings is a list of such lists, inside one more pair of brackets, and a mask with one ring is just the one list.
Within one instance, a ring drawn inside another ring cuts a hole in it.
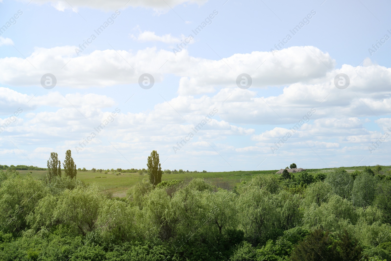
[{"label": "oval grey-green tree, right one of two rounded crowns at far right", "polygon": [[352,200],[354,205],[360,206],[366,209],[375,198],[375,177],[368,173],[363,172],[358,175],[353,185]]}]

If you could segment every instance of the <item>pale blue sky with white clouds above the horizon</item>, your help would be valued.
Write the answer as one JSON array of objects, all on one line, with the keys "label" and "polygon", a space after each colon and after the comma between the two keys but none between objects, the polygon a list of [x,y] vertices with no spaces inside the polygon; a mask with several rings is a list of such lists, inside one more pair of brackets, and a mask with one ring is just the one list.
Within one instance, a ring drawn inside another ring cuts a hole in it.
[{"label": "pale blue sky with white clouds above the horizon", "polygon": [[390,165],[390,8],[0,0],[0,164]]}]

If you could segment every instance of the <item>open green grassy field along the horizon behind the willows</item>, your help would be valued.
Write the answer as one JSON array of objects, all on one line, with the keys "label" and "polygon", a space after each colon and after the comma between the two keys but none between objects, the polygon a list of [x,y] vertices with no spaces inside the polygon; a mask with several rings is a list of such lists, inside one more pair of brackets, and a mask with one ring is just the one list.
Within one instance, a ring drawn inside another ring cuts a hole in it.
[{"label": "open green grassy field along the horizon behind the willows", "polygon": [[[381,173],[385,173],[386,171],[389,171],[391,169],[391,166],[382,166],[383,169]],[[364,166],[360,167],[342,167],[343,169],[346,169],[348,172],[353,172],[356,169],[362,170],[364,169]],[[328,173],[333,171],[334,168],[330,169],[307,169],[308,173]],[[237,183],[241,182],[242,180],[251,180],[253,176],[256,175],[273,175],[273,176],[279,176],[275,173],[278,170],[264,170],[264,171],[229,171],[229,172],[198,172],[198,173],[176,173],[176,174],[163,174],[162,180],[173,180],[173,179],[181,179],[181,180],[190,180],[192,178],[203,178],[210,182],[213,185],[216,185],[217,187],[221,187],[224,189],[231,189],[234,187]],[[32,176],[36,178],[41,178],[42,180],[45,180],[47,171],[31,171]],[[27,173],[30,173],[28,170],[20,170],[19,173],[21,175],[27,175]],[[64,175],[64,171],[63,171]],[[295,173],[295,175],[298,175],[298,173]],[[106,176],[106,178],[95,178],[97,176]],[[96,183],[103,187],[105,190],[113,193],[113,196],[119,196],[124,197],[126,195],[127,189],[129,189],[131,186],[135,185],[137,182],[141,182],[143,178],[147,180],[148,175],[144,173],[143,175],[140,175],[138,173],[121,173],[121,175],[115,175],[113,173],[99,173],[92,171],[87,172],[77,172],[77,178],[83,180],[86,184],[92,184]]]}]

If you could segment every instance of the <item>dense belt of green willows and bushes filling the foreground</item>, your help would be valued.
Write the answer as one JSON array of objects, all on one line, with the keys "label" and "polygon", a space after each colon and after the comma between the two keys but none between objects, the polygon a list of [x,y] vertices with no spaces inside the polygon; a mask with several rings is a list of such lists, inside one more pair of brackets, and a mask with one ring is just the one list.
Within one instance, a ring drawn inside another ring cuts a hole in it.
[{"label": "dense belt of green willows and bushes filling the foreground", "polygon": [[[286,173],[285,173],[286,174]],[[0,260],[388,260],[391,180],[368,169],[136,184],[0,171]]]}]

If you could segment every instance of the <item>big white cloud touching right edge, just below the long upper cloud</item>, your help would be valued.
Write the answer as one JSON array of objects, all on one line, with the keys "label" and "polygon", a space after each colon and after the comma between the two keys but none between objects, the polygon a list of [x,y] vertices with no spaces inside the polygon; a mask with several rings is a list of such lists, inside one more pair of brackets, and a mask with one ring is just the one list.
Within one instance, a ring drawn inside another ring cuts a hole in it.
[{"label": "big white cloud touching right edge, just below the long upper cloud", "polygon": [[[311,119],[381,117],[391,112],[390,72],[391,68],[379,65],[343,65],[323,77],[285,86],[279,95],[261,97],[255,89],[236,88],[221,89],[213,98],[222,102],[229,97],[221,117],[235,123],[293,124],[310,108],[316,110]],[[340,73],[350,77],[350,85],[344,90],[334,85],[334,77]],[[333,124],[347,124],[335,121]]]}]

